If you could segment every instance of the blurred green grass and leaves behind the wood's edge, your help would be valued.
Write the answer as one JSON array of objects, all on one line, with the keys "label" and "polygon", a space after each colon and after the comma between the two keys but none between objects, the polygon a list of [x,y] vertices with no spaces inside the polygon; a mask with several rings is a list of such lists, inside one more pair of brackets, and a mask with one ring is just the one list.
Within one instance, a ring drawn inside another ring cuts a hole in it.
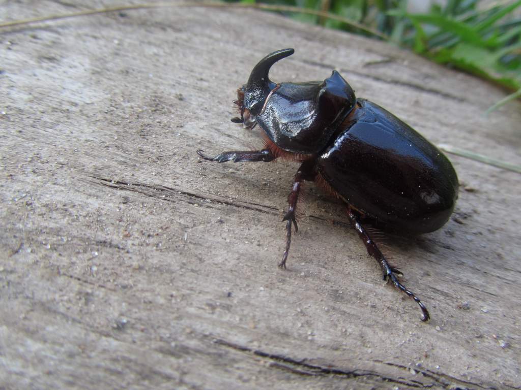
[{"label": "blurred green grass and leaves behind the wood's edge", "polygon": [[[283,13],[293,19],[410,48],[432,61],[478,75],[512,92],[491,109],[521,98],[521,0],[484,4],[479,4],[479,0],[264,0],[263,3],[280,5]],[[299,7],[302,12],[287,12],[284,6]],[[424,10],[415,12],[418,6]],[[306,10],[315,14],[327,12],[337,18],[311,15]]]}]

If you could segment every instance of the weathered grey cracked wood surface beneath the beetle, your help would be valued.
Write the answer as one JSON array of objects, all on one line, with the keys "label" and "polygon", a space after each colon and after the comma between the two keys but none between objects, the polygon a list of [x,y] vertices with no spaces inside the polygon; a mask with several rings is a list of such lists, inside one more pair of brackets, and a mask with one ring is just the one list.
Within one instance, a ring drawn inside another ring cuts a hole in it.
[{"label": "weathered grey cracked wood surface beneath the beetle", "polygon": [[195,154],[260,144],[229,122],[231,100],[283,47],[296,54],[273,79],[336,68],[434,142],[514,163],[519,102],[483,116],[504,96],[485,82],[257,11],[127,11],[0,38],[0,388],[521,388],[518,174],[450,156],[454,218],[389,240],[422,323],[314,185],[277,268],[295,163]]}]

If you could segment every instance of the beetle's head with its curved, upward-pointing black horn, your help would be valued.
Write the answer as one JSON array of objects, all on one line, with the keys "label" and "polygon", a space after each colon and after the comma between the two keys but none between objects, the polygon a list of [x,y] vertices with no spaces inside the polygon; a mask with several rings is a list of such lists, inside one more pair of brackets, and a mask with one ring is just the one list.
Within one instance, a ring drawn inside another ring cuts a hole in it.
[{"label": "beetle's head with its curved, upward-pointing black horn", "polygon": [[237,90],[237,100],[233,102],[238,106],[241,118],[233,118],[232,122],[244,123],[246,127],[255,125],[255,116],[262,111],[269,93],[277,86],[269,80],[269,69],[275,62],[291,56],[294,52],[294,49],[277,50],[255,65],[248,82]]}]

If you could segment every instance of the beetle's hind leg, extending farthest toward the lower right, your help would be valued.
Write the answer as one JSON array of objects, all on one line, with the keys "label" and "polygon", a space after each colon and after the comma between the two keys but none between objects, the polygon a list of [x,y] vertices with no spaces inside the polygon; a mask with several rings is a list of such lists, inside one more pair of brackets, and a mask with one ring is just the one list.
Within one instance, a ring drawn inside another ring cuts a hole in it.
[{"label": "beetle's hind leg, extending farthest toward the lower right", "polygon": [[400,281],[395,275],[395,272],[400,271],[389,265],[387,259],[378,249],[378,246],[376,246],[375,242],[371,240],[364,227],[360,224],[358,216],[352,210],[348,211],[348,215],[351,224],[358,233],[358,236],[364,241],[365,247],[367,248],[367,252],[369,253],[369,255],[373,256],[376,259],[376,261],[380,264],[380,267],[382,267],[383,280],[389,279],[395,288],[403,291],[405,294],[410,296],[414,300],[414,302],[416,302],[419,305],[421,312],[423,313],[421,320],[427,321],[430,318],[429,311],[427,310],[425,305],[419,300],[419,298],[416,295],[414,295],[414,293],[407,290],[405,286],[400,283]]}]

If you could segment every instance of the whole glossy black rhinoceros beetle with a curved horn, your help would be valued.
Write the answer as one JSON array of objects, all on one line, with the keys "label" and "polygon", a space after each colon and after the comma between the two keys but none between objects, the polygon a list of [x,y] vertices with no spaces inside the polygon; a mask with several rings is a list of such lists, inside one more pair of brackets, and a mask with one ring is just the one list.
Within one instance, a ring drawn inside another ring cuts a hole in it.
[{"label": "whole glossy black rhinoceros beetle with a curved horn", "polygon": [[264,149],[228,151],[215,157],[202,150],[205,160],[269,162],[286,158],[301,162],[288,197],[286,250],[279,266],[285,268],[295,210],[304,180],[315,181],[343,200],[351,225],[369,255],[383,271],[383,280],[410,296],[430,316],[425,305],[407,290],[398,269],[371,239],[362,222],[407,233],[427,233],[442,227],[457,199],[458,180],[449,160],[412,127],[366,99],[357,99],[337,72],[328,79],[304,83],[274,83],[271,66],[294,53],[274,51],[253,68],[234,100],[240,117],[235,123],[256,125],[264,131]]}]

